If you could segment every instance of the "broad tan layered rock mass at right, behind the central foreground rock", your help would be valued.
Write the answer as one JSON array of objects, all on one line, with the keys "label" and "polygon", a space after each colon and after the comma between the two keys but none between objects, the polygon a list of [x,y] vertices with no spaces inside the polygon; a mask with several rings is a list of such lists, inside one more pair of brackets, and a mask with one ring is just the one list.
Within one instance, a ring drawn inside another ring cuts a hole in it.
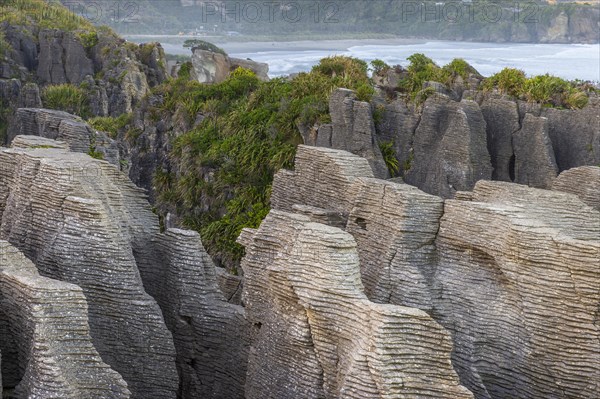
[{"label": "broad tan layered rock mass at right, behind the central foreground rock", "polygon": [[[369,299],[417,307],[450,331],[454,368],[476,398],[596,397],[600,213],[573,194],[490,181],[444,202],[367,166],[301,146],[294,172],[276,175],[272,205],[345,215]],[[581,169],[555,188],[598,173]]]}]

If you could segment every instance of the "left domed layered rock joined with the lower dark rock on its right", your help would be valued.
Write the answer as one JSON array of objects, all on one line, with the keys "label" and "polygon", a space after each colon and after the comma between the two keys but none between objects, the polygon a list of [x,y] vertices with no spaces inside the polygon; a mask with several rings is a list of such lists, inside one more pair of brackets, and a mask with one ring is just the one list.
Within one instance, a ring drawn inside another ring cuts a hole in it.
[{"label": "left domed layered rock joined with the lower dark rock on its right", "polygon": [[[243,309],[219,292],[198,234],[160,234],[142,190],[105,161],[37,136],[14,143],[0,149],[0,237],[83,292],[93,345],[131,397],[243,398]],[[3,368],[15,367],[1,351]],[[74,397],[121,397],[98,395]]]}]

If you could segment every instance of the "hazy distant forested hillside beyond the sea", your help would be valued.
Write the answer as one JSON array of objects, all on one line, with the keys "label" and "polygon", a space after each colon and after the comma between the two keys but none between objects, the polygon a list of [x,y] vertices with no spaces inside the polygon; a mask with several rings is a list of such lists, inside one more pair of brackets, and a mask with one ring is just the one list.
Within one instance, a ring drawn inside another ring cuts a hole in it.
[{"label": "hazy distant forested hillside beyond the sea", "polygon": [[[65,4],[69,3],[63,0]],[[84,7],[83,5],[89,5]],[[199,31],[228,40],[413,37],[480,42],[598,43],[600,4],[542,1],[341,0],[256,3],[142,0],[121,4],[83,0],[73,6],[120,33]],[[98,8],[98,10],[96,10]]]}]

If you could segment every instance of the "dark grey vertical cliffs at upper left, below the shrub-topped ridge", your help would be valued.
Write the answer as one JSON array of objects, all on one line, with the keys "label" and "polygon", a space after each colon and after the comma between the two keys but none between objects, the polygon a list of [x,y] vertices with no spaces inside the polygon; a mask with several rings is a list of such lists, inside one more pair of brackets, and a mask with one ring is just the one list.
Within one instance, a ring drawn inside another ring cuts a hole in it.
[{"label": "dark grey vertical cliffs at upper left, below the shrub-topped ridge", "polygon": [[0,31],[8,44],[0,80],[18,76],[41,85],[85,83],[93,115],[132,112],[151,87],[168,77],[158,43],[138,46],[105,30],[67,32],[35,24],[2,23]]}]

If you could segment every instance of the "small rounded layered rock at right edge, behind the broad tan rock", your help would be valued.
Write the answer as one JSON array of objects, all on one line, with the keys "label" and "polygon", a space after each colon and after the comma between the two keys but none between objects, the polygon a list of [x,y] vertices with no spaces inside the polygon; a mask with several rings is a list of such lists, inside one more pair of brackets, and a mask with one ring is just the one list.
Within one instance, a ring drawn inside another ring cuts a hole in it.
[{"label": "small rounded layered rock at right edge, behind the broad tan rock", "polygon": [[600,211],[600,167],[581,166],[562,172],[554,180],[553,190],[575,194],[580,200]]}]

